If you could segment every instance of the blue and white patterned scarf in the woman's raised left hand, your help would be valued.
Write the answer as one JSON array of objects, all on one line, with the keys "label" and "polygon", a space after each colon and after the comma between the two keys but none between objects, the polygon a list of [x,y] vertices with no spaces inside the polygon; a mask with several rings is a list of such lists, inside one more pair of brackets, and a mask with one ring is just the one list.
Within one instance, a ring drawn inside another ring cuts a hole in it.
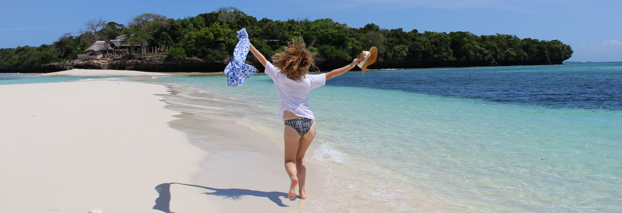
[{"label": "blue and white patterned scarf in the woman's raised left hand", "polygon": [[257,72],[255,67],[244,64],[246,55],[251,50],[251,42],[248,40],[246,28],[238,31],[238,39],[238,45],[233,50],[233,60],[225,67],[225,75],[227,76],[227,85],[229,87],[244,85],[246,80]]}]

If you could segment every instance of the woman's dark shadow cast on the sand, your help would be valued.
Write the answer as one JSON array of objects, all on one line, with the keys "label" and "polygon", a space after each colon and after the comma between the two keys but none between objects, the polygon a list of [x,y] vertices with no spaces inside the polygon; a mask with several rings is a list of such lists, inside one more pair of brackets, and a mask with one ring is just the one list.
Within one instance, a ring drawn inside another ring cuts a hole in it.
[{"label": "woman's dark shadow cast on the sand", "polygon": [[287,193],[285,192],[264,192],[264,191],[255,191],[250,189],[216,189],[207,186],[197,186],[191,184],[182,184],[179,182],[167,182],[156,186],[156,191],[160,194],[158,198],[156,198],[156,206],[153,209],[167,212],[167,213],[175,213],[170,211],[170,184],[181,184],[185,186],[194,186],[200,187],[203,189],[209,189],[213,192],[203,192],[203,194],[221,196],[226,198],[231,198],[234,200],[239,200],[242,196],[256,196],[256,197],[267,197],[270,201],[281,207],[289,207],[283,204],[281,201],[281,197],[285,199],[289,199],[287,197]]}]

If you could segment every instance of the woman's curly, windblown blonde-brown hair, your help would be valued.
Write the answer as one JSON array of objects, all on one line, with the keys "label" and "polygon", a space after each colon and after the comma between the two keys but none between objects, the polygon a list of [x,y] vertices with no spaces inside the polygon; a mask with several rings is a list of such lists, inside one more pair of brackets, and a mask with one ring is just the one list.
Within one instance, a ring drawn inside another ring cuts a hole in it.
[{"label": "woman's curly, windblown blonde-brown hair", "polygon": [[311,66],[315,67],[315,55],[317,52],[307,50],[305,41],[301,37],[287,42],[284,52],[272,56],[272,65],[281,69],[287,78],[302,82],[309,73]]}]

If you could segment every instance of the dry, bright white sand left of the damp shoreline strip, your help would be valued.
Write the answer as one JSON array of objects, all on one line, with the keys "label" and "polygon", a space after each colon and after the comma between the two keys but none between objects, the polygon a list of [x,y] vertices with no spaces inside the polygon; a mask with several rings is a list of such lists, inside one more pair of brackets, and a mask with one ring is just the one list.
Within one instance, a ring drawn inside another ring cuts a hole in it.
[{"label": "dry, bright white sand left of the damp shoreline strip", "polygon": [[[156,186],[192,183],[207,152],[170,128],[163,85],[0,85],[3,212],[162,212]],[[183,197],[177,197],[183,198]]]}]

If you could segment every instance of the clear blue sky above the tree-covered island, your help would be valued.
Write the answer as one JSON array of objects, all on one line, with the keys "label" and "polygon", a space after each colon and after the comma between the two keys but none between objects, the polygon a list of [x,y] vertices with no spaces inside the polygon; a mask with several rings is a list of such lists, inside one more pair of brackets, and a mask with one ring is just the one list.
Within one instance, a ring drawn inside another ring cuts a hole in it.
[{"label": "clear blue sky above the tree-covered island", "polygon": [[419,32],[469,31],[569,44],[573,61],[622,61],[620,0],[317,0],[317,1],[40,1],[0,0],[0,48],[52,44],[89,19],[127,24],[156,12],[179,19],[233,6],[257,19],[330,18],[363,27]]}]

